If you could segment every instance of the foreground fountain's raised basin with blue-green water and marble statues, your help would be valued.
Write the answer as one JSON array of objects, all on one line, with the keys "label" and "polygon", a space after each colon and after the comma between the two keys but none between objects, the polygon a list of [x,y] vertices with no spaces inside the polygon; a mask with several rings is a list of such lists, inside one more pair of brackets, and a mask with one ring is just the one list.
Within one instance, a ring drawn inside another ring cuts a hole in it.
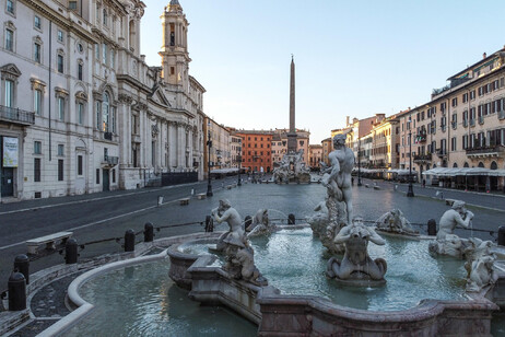
[{"label": "foreground fountain's raised basin with blue-green water and marble statues", "polygon": [[[505,303],[495,247],[469,240],[473,249],[465,251],[465,264],[428,249],[451,235],[449,222],[441,221],[447,232],[436,242],[415,233],[399,210],[379,217],[377,230],[365,225],[352,216],[354,158],[344,140],[334,139],[327,195],[310,225],[275,224],[260,209],[247,235],[238,211],[222,199],[211,213],[228,230],[173,241],[172,280],[191,300],[223,305],[258,325],[260,336],[490,335],[498,310],[490,300]],[[386,232],[401,235],[383,239]]]}]

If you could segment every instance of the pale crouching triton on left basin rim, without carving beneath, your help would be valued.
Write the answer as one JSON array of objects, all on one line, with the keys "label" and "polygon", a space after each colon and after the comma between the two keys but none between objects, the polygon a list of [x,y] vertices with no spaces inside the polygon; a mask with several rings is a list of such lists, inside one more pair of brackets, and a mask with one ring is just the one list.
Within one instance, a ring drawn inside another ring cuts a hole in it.
[{"label": "pale crouching triton on left basin rim, without carving beneath", "polygon": [[[212,210],[212,217],[218,223],[226,221],[230,226],[230,230],[220,236],[216,245],[218,251],[224,251],[227,243],[239,245],[240,242],[247,240],[240,214],[232,207],[228,200],[220,200],[220,206]],[[242,245],[244,246],[244,244]]]}]

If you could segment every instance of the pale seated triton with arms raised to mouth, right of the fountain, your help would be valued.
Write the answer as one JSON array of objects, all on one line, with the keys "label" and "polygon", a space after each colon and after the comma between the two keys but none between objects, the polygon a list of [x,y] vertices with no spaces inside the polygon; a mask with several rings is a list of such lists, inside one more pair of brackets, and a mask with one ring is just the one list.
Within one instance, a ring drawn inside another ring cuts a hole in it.
[{"label": "pale seated triton with arms raised to mouth, right of the fountain", "polygon": [[465,258],[466,255],[471,254],[475,248],[474,242],[459,237],[454,234],[454,230],[458,225],[468,229],[472,219],[473,213],[467,210],[465,201],[454,201],[451,209],[441,218],[436,241],[428,245],[430,253],[458,258]]}]

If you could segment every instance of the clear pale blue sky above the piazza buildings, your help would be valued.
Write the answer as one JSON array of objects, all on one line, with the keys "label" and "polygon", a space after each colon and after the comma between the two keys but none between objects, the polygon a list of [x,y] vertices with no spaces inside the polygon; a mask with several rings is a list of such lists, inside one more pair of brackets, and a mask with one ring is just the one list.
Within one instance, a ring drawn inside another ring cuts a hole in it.
[{"label": "clear pale blue sky above the piazza buildings", "polygon": [[[160,15],[143,0],[142,54],[160,66]],[[345,116],[391,115],[505,44],[505,1],[179,0],[188,19],[189,72],[207,90],[204,113],[246,129],[289,127],[290,62],[296,127],[310,143]]]}]

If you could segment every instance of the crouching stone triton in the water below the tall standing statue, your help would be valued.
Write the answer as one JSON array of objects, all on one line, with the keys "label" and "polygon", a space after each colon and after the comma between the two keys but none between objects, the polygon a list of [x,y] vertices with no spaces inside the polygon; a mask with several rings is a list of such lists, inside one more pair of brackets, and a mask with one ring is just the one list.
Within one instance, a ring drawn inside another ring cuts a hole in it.
[{"label": "crouching stone triton in the water below the tall standing statue", "polygon": [[336,243],[345,245],[342,260],[331,257],[327,265],[327,275],[337,280],[380,281],[385,282],[386,260],[368,256],[368,242],[384,245],[386,242],[373,228],[364,225],[363,219],[354,218],[352,224],[344,226],[334,237]]}]

